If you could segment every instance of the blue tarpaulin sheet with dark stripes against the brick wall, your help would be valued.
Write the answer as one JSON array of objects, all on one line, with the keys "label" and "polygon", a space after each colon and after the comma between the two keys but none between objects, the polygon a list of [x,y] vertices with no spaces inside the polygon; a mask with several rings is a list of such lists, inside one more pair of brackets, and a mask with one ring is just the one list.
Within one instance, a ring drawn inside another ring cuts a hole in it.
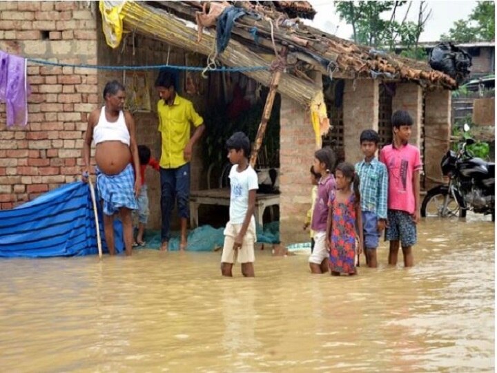
[{"label": "blue tarpaulin sheet with dark stripes against the brick wall", "polygon": [[[72,182],[19,207],[0,211],[0,257],[97,254],[97,229],[89,188],[84,182]],[[99,203],[97,207],[102,250],[108,252]],[[114,231],[115,249],[120,253],[124,251],[124,242],[119,220],[115,220]]]}]

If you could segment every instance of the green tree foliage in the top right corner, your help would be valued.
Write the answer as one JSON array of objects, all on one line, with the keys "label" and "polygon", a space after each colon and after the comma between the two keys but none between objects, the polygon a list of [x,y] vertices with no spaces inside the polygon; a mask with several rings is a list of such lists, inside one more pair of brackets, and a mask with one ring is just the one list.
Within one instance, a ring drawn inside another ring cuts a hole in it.
[{"label": "green tree foliage in the top right corner", "polygon": [[469,41],[495,39],[495,3],[478,1],[478,5],[467,19],[454,22],[454,27],[440,37],[444,41],[467,43]]}]

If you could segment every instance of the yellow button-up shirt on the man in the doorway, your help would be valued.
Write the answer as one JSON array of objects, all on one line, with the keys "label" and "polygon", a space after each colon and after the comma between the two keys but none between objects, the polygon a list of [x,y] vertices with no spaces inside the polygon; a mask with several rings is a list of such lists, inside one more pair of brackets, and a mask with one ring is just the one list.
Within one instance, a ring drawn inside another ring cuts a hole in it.
[{"label": "yellow button-up shirt on the man in the doorway", "polygon": [[157,115],[161,133],[162,152],[160,166],[163,169],[177,169],[186,164],[183,151],[190,141],[191,125],[198,127],[204,119],[197,114],[193,104],[176,94],[172,105],[159,99]]}]

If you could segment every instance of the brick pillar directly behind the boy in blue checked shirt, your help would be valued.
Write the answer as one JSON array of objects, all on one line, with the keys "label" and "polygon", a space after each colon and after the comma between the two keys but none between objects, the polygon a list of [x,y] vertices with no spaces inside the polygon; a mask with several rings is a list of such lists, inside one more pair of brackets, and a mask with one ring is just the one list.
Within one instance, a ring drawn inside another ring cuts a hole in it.
[{"label": "brick pillar directly behind the boy in blue checked shirt", "polygon": [[345,81],[343,97],[345,160],[352,164],[364,157],[360,151],[360,134],[368,128],[378,131],[378,80]]}]

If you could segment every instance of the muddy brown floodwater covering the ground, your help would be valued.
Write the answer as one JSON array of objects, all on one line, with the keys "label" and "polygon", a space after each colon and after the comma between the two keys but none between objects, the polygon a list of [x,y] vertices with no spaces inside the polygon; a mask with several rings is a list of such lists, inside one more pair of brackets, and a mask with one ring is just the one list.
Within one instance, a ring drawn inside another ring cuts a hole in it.
[{"label": "muddy brown floodwater covering the ground", "polygon": [[[0,260],[2,372],[493,372],[494,224],[422,222],[416,267],[257,251]],[[402,259],[402,256],[400,256]],[[402,261],[402,260],[400,260]]]}]

